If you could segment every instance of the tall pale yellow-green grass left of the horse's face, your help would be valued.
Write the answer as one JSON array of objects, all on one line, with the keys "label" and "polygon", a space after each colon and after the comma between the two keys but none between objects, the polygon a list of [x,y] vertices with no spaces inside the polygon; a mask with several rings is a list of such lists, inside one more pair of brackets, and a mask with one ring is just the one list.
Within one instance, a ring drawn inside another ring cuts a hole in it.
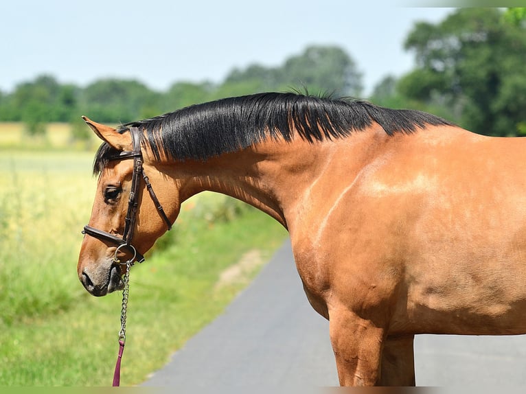
[{"label": "tall pale yellow-green grass left of the horse's face", "polygon": [[3,324],[69,308],[78,297],[72,268],[93,202],[91,161],[89,152],[0,155]]}]

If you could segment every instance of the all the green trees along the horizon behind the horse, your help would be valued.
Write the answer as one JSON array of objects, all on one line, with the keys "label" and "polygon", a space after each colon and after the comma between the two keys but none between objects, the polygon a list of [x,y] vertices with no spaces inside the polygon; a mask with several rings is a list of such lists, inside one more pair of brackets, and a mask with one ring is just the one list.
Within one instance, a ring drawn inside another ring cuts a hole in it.
[{"label": "all the green trees along the horizon behind the horse", "polygon": [[[439,23],[416,23],[404,43],[415,55],[413,70],[386,76],[369,100],[422,109],[487,135],[526,135],[525,22],[524,8],[463,8]],[[38,134],[49,121],[76,124],[82,114],[124,123],[222,97],[290,89],[361,97],[362,74],[340,47],[310,46],[277,67],[253,64],[218,84],[179,81],[163,92],[137,80],[80,87],[43,75],[12,93],[0,91],[0,121],[23,121]]]}]

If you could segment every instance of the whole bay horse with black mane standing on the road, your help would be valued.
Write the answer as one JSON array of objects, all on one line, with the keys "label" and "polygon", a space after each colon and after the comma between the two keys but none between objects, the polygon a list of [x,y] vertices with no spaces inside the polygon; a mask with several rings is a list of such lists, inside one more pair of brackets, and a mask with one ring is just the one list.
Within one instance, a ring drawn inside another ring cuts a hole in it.
[{"label": "whole bay horse with black mane standing on the road", "polygon": [[[415,334],[526,333],[526,139],[295,93],[118,129],[84,120],[104,141],[78,260],[95,296],[122,288],[114,255],[146,253],[181,202],[209,190],[288,229],[308,301],[329,320],[341,385],[414,385]],[[137,181],[136,162],[149,182]]]}]

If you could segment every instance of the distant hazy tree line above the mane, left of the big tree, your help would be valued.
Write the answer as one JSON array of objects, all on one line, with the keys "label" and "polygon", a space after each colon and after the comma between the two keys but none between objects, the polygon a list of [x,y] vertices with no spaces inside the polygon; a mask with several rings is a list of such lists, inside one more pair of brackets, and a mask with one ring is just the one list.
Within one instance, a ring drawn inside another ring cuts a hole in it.
[{"label": "distant hazy tree line above the mane, left of the big tree", "polygon": [[174,82],[164,92],[137,80],[103,79],[80,87],[43,75],[19,84],[12,93],[0,93],[0,121],[23,121],[30,133],[38,134],[47,122],[75,122],[82,114],[99,122],[124,123],[199,102],[292,86],[359,95],[361,75],[343,49],[328,46],[307,47],[279,67],[233,69],[220,84]]}]

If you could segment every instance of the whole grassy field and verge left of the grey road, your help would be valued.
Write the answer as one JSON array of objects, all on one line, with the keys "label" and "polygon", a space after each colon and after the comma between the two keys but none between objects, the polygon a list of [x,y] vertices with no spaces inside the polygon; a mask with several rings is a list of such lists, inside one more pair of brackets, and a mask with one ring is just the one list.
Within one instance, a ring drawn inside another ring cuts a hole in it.
[{"label": "whole grassy field and verge left of the grey road", "polygon": [[[109,385],[121,294],[91,297],[76,275],[93,151],[68,152],[65,128],[32,144],[16,127],[0,125],[0,385]],[[225,196],[183,205],[174,230],[131,273],[122,384],[162,367],[285,237],[271,218]],[[241,269],[229,270],[235,264]]]}]

